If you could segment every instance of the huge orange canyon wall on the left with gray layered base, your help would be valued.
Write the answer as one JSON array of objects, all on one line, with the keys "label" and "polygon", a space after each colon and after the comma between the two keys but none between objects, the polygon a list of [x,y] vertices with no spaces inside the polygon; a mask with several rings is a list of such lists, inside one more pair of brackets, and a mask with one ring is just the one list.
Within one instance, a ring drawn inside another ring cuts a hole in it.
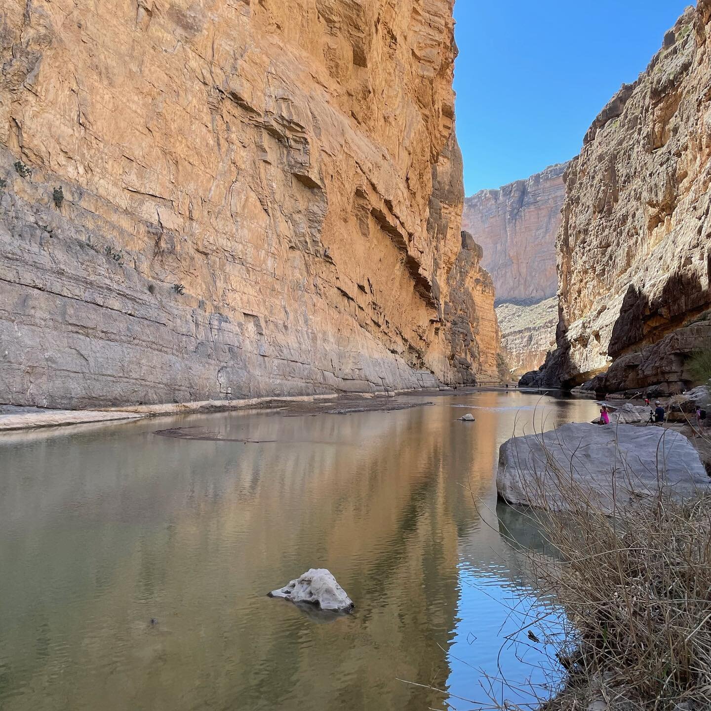
[{"label": "huge orange canyon wall on the left with gray layered base", "polygon": [[452,4],[6,0],[0,402],[473,379]]}]

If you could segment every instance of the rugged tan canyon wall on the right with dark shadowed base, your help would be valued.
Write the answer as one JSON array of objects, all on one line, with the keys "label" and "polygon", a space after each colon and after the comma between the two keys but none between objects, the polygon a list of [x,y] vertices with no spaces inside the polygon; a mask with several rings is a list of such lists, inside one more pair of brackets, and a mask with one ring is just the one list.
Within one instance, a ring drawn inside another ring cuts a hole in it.
[{"label": "rugged tan canyon wall on the right with dark shadowed base", "polygon": [[711,306],[710,32],[711,0],[699,0],[602,110],[567,169],[558,348],[525,383],[688,383],[702,328],[673,334]]}]

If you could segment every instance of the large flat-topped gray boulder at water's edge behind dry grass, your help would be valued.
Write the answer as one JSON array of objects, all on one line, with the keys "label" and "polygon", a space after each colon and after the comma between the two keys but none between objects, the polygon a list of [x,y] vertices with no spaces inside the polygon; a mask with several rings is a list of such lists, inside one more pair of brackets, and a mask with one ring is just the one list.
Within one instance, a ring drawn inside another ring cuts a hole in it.
[{"label": "large flat-topped gray boulder at water's edge behind dry grass", "polygon": [[[504,442],[496,488],[514,506],[566,510],[571,502],[587,500],[611,513],[633,497],[661,489],[677,499],[711,491],[711,480],[683,434],[652,426],[572,423]],[[562,493],[571,488],[573,500]]]}]

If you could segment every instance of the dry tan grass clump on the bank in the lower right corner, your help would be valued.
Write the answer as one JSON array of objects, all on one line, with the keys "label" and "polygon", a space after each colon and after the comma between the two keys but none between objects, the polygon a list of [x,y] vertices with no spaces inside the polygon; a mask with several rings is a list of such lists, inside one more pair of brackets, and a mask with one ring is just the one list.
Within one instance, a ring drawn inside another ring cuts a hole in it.
[{"label": "dry tan grass clump on the bank in the lower right corner", "polygon": [[527,515],[560,552],[528,554],[535,585],[572,626],[555,646],[565,687],[542,707],[711,709],[711,496],[681,503],[662,488],[610,516],[565,472],[530,486],[541,508]]}]

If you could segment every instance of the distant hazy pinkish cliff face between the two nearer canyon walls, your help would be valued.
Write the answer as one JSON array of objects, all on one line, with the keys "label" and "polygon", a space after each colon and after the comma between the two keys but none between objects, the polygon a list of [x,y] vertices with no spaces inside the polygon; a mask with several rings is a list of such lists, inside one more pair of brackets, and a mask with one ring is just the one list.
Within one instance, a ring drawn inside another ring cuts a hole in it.
[{"label": "distant hazy pinkish cliff face between the two nearer canyon walls", "polygon": [[555,235],[565,197],[567,164],[464,202],[463,225],[483,247],[496,301],[538,302],[555,296]]}]

